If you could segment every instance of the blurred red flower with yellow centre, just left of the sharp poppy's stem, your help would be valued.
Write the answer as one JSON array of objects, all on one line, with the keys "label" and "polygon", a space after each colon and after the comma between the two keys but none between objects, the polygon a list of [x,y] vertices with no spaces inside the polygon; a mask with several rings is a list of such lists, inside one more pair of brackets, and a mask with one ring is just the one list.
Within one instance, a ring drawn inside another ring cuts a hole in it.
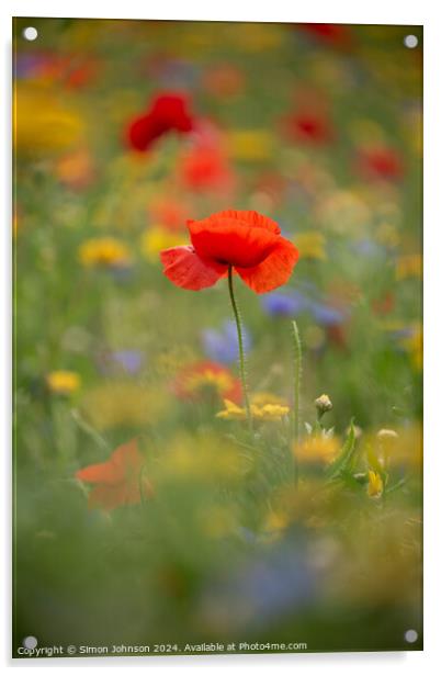
[{"label": "blurred red flower with yellow centre, just left of the sharp poppy's stem", "polygon": [[182,369],[173,384],[177,396],[201,401],[215,395],[216,403],[229,399],[240,404],[242,390],[229,369],[215,361],[200,361]]}]

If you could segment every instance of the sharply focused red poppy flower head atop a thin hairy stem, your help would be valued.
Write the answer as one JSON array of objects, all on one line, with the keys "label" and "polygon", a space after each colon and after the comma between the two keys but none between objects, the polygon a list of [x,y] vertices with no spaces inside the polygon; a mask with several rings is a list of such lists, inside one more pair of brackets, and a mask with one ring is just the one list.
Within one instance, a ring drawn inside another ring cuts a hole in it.
[{"label": "sharply focused red poppy flower head atop a thin hairy stem", "polygon": [[213,286],[229,266],[257,293],[290,279],[298,251],[279,225],[255,211],[227,210],[186,222],[192,246],[161,251],[163,273],[182,289]]}]

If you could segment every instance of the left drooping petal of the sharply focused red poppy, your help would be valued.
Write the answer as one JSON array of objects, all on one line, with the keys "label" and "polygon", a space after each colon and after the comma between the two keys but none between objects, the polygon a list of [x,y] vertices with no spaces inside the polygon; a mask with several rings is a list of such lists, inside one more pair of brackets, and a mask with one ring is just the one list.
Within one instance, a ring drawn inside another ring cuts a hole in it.
[{"label": "left drooping petal of the sharply focused red poppy", "polygon": [[201,258],[194,247],[172,247],[160,254],[163,274],[190,291],[213,286],[228,270],[226,264]]}]

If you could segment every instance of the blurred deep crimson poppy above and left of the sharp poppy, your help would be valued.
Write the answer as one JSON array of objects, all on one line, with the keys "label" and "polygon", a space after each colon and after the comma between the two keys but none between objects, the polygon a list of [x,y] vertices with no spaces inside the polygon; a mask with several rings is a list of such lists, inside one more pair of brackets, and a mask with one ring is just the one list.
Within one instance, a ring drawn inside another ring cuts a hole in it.
[{"label": "blurred deep crimson poppy above and left of the sharp poppy", "polygon": [[134,150],[144,153],[151,144],[168,134],[185,134],[193,128],[185,97],[180,93],[158,95],[150,109],[135,117],[127,127],[127,140]]}]

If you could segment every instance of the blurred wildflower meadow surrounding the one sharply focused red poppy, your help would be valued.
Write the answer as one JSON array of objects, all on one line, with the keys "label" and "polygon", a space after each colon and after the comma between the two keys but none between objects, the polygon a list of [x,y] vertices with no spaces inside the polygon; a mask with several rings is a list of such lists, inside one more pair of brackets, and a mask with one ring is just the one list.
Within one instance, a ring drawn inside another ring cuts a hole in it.
[{"label": "blurred wildflower meadow surrounding the one sharply focused red poppy", "polygon": [[[421,42],[14,20],[15,652],[421,649]],[[159,260],[225,209],[299,251],[235,281],[252,433],[227,282]]]}]

